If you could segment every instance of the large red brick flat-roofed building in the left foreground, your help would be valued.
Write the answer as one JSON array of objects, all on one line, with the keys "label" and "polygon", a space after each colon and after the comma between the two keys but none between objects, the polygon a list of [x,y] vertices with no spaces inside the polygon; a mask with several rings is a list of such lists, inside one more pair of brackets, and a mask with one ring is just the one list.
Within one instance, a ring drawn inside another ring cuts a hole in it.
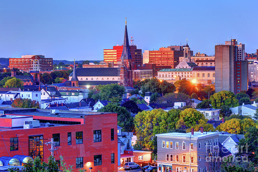
[{"label": "large red brick flat-roofed building in the left foreground", "polygon": [[[50,110],[21,108],[5,110],[6,116],[0,116],[0,135],[4,138],[0,142],[0,157],[24,154],[33,159],[39,156],[47,162],[50,145],[44,143],[54,138],[59,145],[58,150],[54,151],[56,161],[62,156],[67,166],[73,165],[74,171],[89,170],[90,167],[93,172],[117,171],[117,114],[59,112],[51,114]],[[40,125],[33,124],[34,128],[23,129],[23,122],[31,121],[32,118],[39,120]]]}]

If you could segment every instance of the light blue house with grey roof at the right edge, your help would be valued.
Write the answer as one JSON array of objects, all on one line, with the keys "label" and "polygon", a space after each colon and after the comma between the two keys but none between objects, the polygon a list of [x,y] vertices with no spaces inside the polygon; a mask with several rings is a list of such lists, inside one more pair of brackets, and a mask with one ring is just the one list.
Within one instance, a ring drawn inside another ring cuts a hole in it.
[{"label": "light blue house with grey roof at the right edge", "polygon": [[241,106],[233,107],[230,110],[232,111],[232,114],[250,115],[251,117],[253,117],[257,108],[258,107],[254,105],[243,104]]}]

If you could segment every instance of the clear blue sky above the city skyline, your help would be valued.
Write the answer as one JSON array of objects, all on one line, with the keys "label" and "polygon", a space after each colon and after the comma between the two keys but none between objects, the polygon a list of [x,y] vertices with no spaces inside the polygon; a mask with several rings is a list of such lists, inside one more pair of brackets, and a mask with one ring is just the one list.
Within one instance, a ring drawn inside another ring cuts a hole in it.
[{"label": "clear blue sky above the city skyline", "polygon": [[214,54],[236,38],[256,52],[258,1],[0,1],[0,57],[44,54],[54,60],[103,60],[128,36],[137,48],[188,44]]}]

